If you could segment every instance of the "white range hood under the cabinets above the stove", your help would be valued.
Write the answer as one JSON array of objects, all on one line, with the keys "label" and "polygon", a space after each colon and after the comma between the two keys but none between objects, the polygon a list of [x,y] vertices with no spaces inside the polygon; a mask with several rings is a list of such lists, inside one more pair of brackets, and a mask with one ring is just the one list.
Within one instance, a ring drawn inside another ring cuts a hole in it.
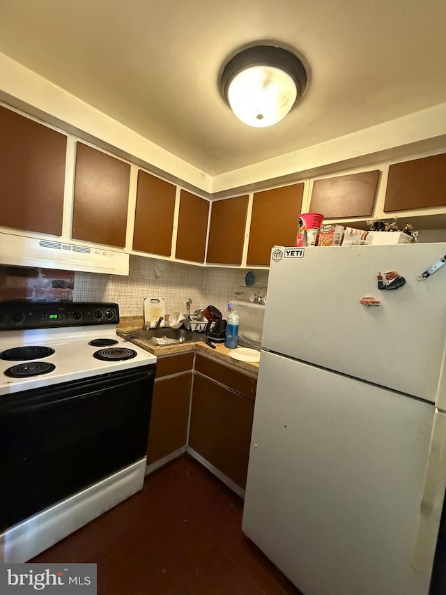
[{"label": "white range hood under the cabinets above the stove", "polygon": [[0,232],[0,264],[128,275],[129,255],[97,246]]}]

